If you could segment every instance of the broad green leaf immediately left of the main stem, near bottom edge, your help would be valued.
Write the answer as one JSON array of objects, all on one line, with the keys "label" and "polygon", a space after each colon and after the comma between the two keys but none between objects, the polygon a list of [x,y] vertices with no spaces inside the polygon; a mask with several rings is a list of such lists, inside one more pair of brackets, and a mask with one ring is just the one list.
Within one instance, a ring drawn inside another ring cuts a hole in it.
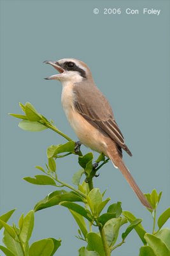
[{"label": "broad green leaf immediately left of the main stem, near bottom edge", "polygon": [[94,232],[88,233],[87,241],[88,241],[87,250],[95,251],[99,253],[100,256],[106,255],[104,252],[103,242],[101,240],[101,237],[98,234]]}]

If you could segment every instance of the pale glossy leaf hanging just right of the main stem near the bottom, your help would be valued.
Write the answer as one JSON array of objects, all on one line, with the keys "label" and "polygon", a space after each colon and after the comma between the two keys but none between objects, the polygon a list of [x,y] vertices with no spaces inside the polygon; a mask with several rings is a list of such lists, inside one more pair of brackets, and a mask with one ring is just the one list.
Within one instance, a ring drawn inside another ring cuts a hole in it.
[{"label": "pale glossy leaf hanging just right of the main stem near the bottom", "polygon": [[121,217],[113,218],[106,222],[104,225],[104,233],[108,242],[108,246],[113,246],[116,243],[119,229],[123,224],[124,222],[122,222]]}]

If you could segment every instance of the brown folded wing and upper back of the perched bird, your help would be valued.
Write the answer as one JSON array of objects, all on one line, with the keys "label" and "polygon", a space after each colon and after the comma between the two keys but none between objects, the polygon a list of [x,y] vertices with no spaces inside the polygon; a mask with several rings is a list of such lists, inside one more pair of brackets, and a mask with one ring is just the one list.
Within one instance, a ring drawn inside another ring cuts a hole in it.
[{"label": "brown folded wing and upper back of the perched bird", "polygon": [[[110,136],[119,148],[123,148],[130,156],[131,151],[125,145],[124,136],[113,116],[111,106],[104,95],[95,86],[95,95],[92,95],[89,84],[82,86],[79,84],[74,86],[75,100],[74,108],[83,116],[90,124],[99,129],[104,134]],[[86,97],[82,97],[86,95]],[[120,150],[120,149],[119,149]]]}]

